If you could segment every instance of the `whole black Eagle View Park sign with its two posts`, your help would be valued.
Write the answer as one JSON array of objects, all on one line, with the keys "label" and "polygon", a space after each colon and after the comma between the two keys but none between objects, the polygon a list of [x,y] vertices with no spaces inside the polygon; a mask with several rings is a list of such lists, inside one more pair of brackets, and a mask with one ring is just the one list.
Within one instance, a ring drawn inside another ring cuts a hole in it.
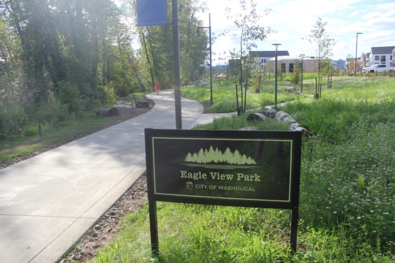
[{"label": "whole black Eagle View Park sign with its two posts", "polygon": [[156,201],[291,209],[296,250],[301,132],[146,129],[151,242]]}]

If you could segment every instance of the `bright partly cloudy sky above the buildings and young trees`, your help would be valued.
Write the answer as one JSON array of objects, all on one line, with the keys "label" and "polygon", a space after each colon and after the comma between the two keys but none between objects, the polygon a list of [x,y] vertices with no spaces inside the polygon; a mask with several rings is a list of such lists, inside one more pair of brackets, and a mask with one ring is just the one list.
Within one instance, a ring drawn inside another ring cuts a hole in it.
[{"label": "bright partly cloudy sky above the buildings and young trees", "polygon": [[[277,32],[258,41],[256,51],[275,50],[273,43],[280,43],[278,50],[288,50],[290,55],[317,55],[315,47],[303,37],[311,33],[318,17],[327,22],[327,33],[336,41],[332,59],[346,59],[350,54],[355,57],[356,33],[358,34],[357,57],[370,52],[371,47],[395,46],[395,1],[392,0],[256,0],[258,11],[272,9],[264,15],[260,26],[270,26]],[[223,64],[218,57],[223,51],[240,46],[239,34],[232,20],[226,18],[225,8],[235,12],[240,9],[238,0],[207,0],[207,10],[198,14],[204,26],[208,26],[211,13],[211,32],[219,35],[212,43],[213,65]],[[171,19],[171,17],[170,17]],[[169,20],[169,17],[168,17]]]}]

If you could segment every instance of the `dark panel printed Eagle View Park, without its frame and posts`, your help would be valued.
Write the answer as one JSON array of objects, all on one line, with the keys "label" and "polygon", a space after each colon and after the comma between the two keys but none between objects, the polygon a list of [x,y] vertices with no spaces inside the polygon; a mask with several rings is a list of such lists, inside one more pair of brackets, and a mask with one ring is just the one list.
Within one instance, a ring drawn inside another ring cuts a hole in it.
[{"label": "dark panel printed Eagle View Park, without its frame and posts", "polygon": [[291,201],[293,141],[152,137],[155,195]]}]

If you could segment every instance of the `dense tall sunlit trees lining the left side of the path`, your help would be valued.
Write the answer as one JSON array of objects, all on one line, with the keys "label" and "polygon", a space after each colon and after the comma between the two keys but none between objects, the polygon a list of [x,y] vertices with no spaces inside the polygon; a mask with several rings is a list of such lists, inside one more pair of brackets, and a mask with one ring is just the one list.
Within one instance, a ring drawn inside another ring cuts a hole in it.
[{"label": "dense tall sunlit trees lining the left side of the path", "polygon": [[[185,83],[206,57],[207,34],[192,39],[204,9],[200,1],[179,0]],[[15,117],[22,125],[63,118],[38,112],[78,115],[156,81],[172,87],[172,27],[136,28],[135,21],[134,0],[121,8],[111,0],[0,0],[1,119],[14,119],[9,104],[23,112]]]}]

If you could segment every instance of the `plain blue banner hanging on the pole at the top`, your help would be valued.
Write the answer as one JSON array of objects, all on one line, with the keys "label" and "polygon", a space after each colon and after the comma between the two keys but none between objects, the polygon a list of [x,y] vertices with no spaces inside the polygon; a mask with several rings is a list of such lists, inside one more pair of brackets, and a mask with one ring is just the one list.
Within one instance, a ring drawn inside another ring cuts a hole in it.
[{"label": "plain blue banner hanging on the pole at the top", "polygon": [[167,25],[166,0],[137,0],[137,26]]}]

